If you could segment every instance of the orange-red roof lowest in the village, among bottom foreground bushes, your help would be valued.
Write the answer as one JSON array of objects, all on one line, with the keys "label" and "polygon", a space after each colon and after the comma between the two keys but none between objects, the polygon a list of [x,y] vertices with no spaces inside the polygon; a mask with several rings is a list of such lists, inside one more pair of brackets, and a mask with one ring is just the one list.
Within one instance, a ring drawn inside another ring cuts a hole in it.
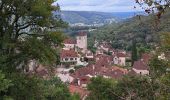
[{"label": "orange-red roof lowest in the village, among bottom foreground bushes", "polygon": [[85,96],[89,94],[87,90],[74,85],[69,86],[69,91],[71,94],[78,93],[81,99],[83,99]]}]

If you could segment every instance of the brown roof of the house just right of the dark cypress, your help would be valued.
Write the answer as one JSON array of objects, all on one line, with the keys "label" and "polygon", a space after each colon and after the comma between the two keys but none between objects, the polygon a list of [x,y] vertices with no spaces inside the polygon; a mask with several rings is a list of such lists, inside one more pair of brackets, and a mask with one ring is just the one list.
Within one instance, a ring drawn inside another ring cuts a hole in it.
[{"label": "brown roof of the house just right of the dark cypress", "polygon": [[145,64],[145,62],[142,60],[135,61],[133,68],[137,70],[148,70],[147,64]]}]

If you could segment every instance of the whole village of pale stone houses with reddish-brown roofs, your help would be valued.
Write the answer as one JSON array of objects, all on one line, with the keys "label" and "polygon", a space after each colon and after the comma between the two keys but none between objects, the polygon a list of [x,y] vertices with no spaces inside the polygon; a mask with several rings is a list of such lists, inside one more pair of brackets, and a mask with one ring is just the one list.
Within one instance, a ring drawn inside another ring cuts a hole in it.
[{"label": "whole village of pale stone houses with reddish-brown roofs", "polygon": [[[56,77],[68,84],[69,91],[72,94],[78,93],[82,100],[89,94],[86,87],[93,77],[119,80],[125,75],[149,75],[151,54],[142,54],[132,65],[127,62],[131,60],[131,52],[114,49],[107,42],[96,41],[94,46],[97,50],[94,54],[88,50],[87,43],[85,32],[77,33],[75,39],[66,38],[60,51],[60,64],[52,70]],[[164,55],[159,58],[164,59]],[[49,71],[44,66],[37,65],[36,61],[30,61],[29,72],[34,72],[35,68],[37,75],[48,79]]]}]

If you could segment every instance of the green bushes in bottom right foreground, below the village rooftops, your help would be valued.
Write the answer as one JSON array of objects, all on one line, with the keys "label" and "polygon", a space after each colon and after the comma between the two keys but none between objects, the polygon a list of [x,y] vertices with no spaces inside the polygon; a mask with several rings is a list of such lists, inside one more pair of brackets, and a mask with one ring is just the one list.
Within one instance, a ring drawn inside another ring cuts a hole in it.
[{"label": "green bushes in bottom right foreground, below the village rooftops", "polygon": [[87,100],[155,100],[161,87],[145,76],[125,76],[118,81],[97,77],[88,85]]}]

